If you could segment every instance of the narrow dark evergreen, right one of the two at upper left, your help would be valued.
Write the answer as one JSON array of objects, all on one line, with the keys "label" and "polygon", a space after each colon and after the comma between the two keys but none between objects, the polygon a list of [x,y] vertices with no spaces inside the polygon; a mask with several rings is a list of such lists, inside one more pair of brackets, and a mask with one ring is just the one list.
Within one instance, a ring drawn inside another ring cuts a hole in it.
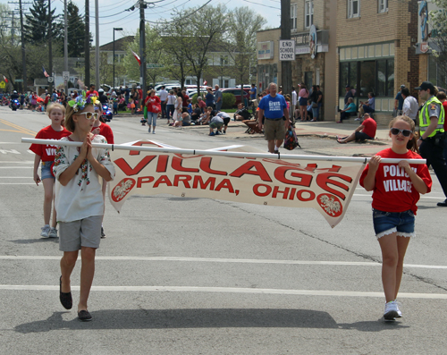
[{"label": "narrow dark evergreen, right one of the two at upper left", "polygon": [[[80,9],[70,1],[67,4],[68,56],[79,57],[84,52],[85,22]],[[91,35],[90,35],[91,37]]]}]

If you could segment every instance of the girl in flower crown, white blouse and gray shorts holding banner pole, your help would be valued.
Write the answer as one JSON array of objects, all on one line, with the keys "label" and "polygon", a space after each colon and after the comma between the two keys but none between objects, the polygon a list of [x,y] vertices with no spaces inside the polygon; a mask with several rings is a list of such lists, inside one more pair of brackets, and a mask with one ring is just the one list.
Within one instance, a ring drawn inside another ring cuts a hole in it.
[{"label": "girl in flower crown, white blouse and gray shorts holding banner pole", "polygon": [[78,317],[92,319],[87,300],[95,274],[95,253],[101,240],[101,221],[104,199],[100,177],[106,182],[114,179],[114,165],[108,150],[92,148],[92,143],[106,143],[103,136],[91,133],[97,113],[97,97],[85,92],[68,102],[65,126],[72,135],[61,140],[82,142],[80,148],[56,148],[54,173],[56,178],[55,208],[59,222],[61,277],[59,300],[65,309],[72,309],[70,276],[80,250],[80,301]]}]

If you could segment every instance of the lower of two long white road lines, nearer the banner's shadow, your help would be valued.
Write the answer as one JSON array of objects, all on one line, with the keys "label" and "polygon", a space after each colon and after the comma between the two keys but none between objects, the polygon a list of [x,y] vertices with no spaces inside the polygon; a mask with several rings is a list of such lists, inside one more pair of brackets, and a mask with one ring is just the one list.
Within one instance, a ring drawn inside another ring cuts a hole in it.
[{"label": "lower of two long white road lines, nearer the banner's shadow", "polygon": [[[5,291],[58,291],[59,285],[21,285],[0,284],[0,290]],[[72,286],[72,291],[79,291],[79,286]],[[257,293],[282,294],[301,296],[339,296],[339,297],[377,297],[383,298],[384,292],[353,292],[328,290],[281,290],[281,289],[253,289],[237,287],[193,287],[193,286],[92,286],[92,291],[105,292],[223,292],[223,293]],[[399,299],[429,299],[447,300],[443,293],[399,293]]]}]

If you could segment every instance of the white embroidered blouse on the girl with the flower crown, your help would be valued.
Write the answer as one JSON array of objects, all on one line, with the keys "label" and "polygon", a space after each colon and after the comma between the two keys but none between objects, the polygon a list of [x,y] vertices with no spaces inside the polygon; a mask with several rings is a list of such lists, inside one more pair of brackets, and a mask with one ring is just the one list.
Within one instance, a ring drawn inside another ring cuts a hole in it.
[{"label": "white embroidered blouse on the girl with the flower crown", "polygon": [[[68,137],[61,140],[69,141]],[[92,143],[107,143],[103,136],[96,135]],[[101,176],[86,159],[80,165],[78,172],[72,180],[63,186],[59,182],[61,174],[74,162],[80,154],[80,148],[70,146],[59,146],[55,151],[55,210],[58,222],[72,222],[90,216],[104,215],[104,199]],[[97,161],[105,166],[114,179],[114,165],[110,161],[108,149],[92,148],[92,154]]]}]

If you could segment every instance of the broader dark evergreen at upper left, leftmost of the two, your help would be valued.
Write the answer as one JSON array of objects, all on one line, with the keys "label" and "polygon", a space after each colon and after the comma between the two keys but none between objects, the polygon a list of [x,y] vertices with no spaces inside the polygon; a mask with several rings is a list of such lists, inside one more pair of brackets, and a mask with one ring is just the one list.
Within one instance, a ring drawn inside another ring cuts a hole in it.
[{"label": "broader dark evergreen at upper left, leftmost of the two", "polygon": [[[23,24],[25,41],[31,45],[38,45],[48,41],[48,2],[46,0],[34,0],[30,7],[30,15],[27,14]],[[52,38],[61,39],[63,26],[59,22],[59,15],[55,15],[55,9],[50,13],[52,22]]]}]

